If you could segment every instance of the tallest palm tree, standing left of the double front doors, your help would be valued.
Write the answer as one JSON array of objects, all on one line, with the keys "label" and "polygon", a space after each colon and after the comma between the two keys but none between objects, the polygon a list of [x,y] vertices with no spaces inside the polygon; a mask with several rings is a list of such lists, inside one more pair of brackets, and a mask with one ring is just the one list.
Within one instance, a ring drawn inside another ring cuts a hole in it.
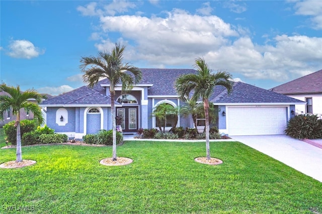
[{"label": "tallest palm tree, standing left of the double front doors", "polygon": [[[123,64],[123,52],[125,46],[120,47],[116,44],[111,53],[99,52],[97,57],[82,57],[81,68],[83,81],[88,83],[89,87],[94,87],[101,78],[107,78],[110,81],[111,112],[115,118],[115,87],[122,83],[122,93],[130,91],[135,84],[138,84],[142,78],[141,71],[128,64]],[[88,67],[90,66],[90,67]],[[112,160],[116,160],[116,121],[113,119],[113,154]]]}]

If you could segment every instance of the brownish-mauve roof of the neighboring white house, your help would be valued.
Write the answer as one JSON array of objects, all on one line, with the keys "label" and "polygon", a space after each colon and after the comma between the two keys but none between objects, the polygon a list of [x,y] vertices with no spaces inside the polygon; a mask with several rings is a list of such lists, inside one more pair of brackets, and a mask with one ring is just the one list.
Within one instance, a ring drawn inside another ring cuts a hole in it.
[{"label": "brownish-mauve roof of the neighboring white house", "polygon": [[322,93],[322,70],[276,86],[271,90],[281,94]]}]

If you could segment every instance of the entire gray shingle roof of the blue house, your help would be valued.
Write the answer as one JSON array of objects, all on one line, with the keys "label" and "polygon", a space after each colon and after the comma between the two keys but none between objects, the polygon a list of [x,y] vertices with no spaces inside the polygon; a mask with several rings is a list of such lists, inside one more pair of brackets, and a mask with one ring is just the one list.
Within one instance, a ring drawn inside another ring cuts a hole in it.
[{"label": "entire gray shingle roof of the blue house", "polygon": [[[153,84],[148,95],[176,96],[174,87],[176,79],[183,74],[196,73],[194,69],[140,69],[142,80],[140,84]],[[45,100],[41,105],[110,105],[110,97],[106,96],[102,84],[109,84],[107,79],[101,80],[93,89],[83,86],[59,96]],[[252,86],[242,82],[233,85],[233,91],[228,96],[227,90],[217,86],[209,99],[213,103],[303,103],[302,101]],[[116,102],[117,103],[117,102]]]}]

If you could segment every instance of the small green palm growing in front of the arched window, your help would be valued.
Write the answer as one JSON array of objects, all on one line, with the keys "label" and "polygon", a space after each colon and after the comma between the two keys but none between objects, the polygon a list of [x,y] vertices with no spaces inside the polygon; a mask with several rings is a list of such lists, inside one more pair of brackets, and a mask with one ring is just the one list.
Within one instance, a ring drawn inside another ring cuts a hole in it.
[{"label": "small green palm growing in front of the arched window", "polygon": [[169,103],[162,103],[154,107],[152,115],[155,116],[156,123],[159,125],[159,130],[162,131],[163,125],[163,133],[166,131],[166,127],[168,127],[167,119],[172,117],[174,119],[173,123],[171,123],[172,128],[177,126],[178,123],[178,114],[179,108],[175,108]]}]

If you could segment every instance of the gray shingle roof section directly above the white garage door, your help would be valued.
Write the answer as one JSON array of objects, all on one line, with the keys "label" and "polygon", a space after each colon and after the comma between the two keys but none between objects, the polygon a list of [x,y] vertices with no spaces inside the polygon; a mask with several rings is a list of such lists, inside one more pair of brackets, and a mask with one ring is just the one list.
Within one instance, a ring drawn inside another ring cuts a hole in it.
[{"label": "gray shingle roof section directly above the white garage door", "polygon": [[233,84],[232,92],[229,96],[224,87],[217,86],[210,101],[213,103],[304,103],[283,94],[242,82]]}]

